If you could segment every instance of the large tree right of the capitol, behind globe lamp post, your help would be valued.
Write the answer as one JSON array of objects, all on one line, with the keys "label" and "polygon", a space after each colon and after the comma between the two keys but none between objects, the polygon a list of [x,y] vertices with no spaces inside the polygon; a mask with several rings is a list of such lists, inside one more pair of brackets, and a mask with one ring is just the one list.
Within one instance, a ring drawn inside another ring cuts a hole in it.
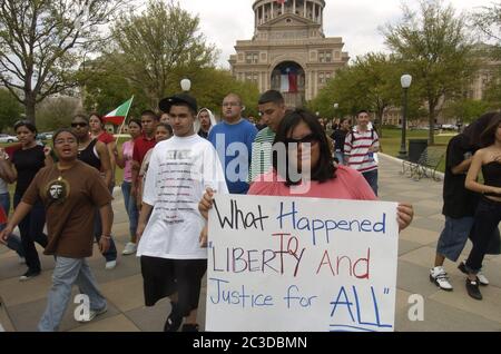
[{"label": "large tree right of the capitol, behind globe lamp post", "polygon": [[[383,30],[386,45],[405,63],[428,106],[430,127],[443,104],[462,94],[475,70],[465,18],[441,0],[421,0],[419,14],[404,7],[404,19]],[[434,144],[430,129],[430,144]]]}]

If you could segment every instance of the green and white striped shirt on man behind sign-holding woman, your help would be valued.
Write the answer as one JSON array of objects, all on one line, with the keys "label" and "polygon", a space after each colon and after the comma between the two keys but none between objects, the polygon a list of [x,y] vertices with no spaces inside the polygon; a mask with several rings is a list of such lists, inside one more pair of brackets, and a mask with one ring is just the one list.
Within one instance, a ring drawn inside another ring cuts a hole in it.
[{"label": "green and white striped shirt on man behind sign-holding woman", "polygon": [[268,173],[272,168],[272,147],[275,141],[275,131],[266,127],[261,130],[253,142],[253,159],[248,170],[248,183],[256,177]]}]

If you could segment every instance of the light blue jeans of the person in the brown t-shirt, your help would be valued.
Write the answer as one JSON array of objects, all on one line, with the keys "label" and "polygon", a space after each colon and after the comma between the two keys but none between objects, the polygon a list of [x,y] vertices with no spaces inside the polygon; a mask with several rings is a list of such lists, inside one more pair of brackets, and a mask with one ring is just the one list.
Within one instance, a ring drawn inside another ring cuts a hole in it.
[{"label": "light blue jeans of the person in the brown t-shirt", "polygon": [[78,285],[81,294],[89,296],[90,311],[100,311],[107,306],[106,298],[99,292],[85,258],[56,257],[52,287],[47,298],[46,311],[38,324],[38,331],[55,332],[59,328],[71,297],[73,284]]}]

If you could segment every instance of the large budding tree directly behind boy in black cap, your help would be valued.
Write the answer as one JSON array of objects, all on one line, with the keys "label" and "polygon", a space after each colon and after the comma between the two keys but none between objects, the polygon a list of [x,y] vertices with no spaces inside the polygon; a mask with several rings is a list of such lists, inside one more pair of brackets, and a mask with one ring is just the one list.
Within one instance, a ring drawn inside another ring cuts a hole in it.
[{"label": "large budding tree directly behind boy in black cap", "polygon": [[132,86],[144,90],[151,107],[179,79],[214,67],[217,51],[198,33],[199,18],[173,1],[150,0],[140,14],[125,13],[112,28],[114,62]]}]

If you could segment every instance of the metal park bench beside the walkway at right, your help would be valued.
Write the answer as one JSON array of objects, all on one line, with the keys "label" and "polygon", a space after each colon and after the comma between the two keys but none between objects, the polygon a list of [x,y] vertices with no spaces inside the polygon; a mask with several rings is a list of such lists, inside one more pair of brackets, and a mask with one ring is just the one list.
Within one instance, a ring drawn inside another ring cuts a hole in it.
[{"label": "metal park bench beside the walkway at right", "polygon": [[409,175],[414,180],[421,178],[433,178],[433,180],[440,181],[436,169],[440,166],[444,157],[444,153],[436,148],[426,148],[416,163],[402,161],[402,175]]}]

